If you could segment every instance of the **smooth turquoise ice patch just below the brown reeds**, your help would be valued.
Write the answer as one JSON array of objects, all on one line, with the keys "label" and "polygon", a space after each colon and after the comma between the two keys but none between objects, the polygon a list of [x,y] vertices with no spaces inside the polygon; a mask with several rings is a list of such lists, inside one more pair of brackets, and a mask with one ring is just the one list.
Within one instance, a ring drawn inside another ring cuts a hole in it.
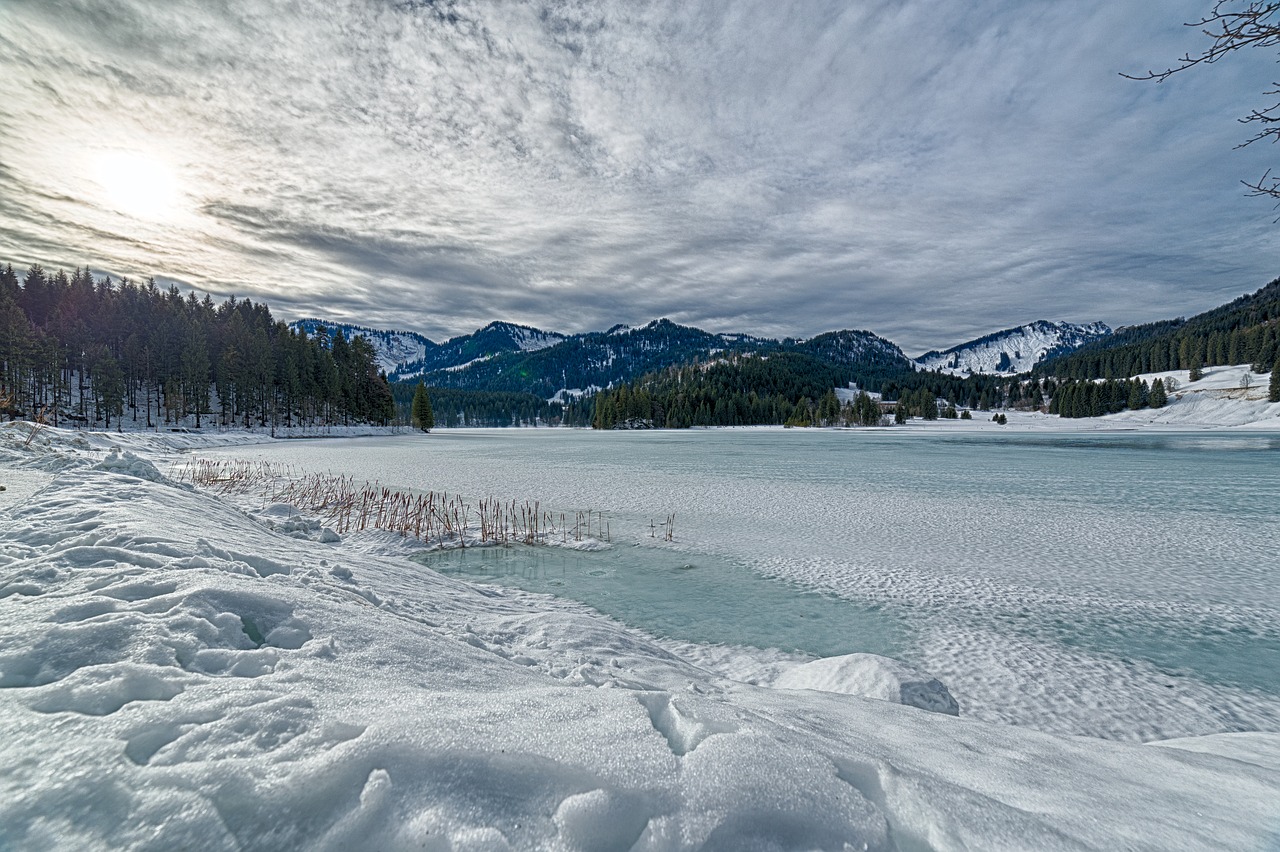
[{"label": "smooth turquoise ice patch just below the brown reeds", "polygon": [[576,600],[685,642],[893,656],[906,641],[892,606],[842,600],[705,554],[517,546],[431,551],[417,560],[444,574]]}]

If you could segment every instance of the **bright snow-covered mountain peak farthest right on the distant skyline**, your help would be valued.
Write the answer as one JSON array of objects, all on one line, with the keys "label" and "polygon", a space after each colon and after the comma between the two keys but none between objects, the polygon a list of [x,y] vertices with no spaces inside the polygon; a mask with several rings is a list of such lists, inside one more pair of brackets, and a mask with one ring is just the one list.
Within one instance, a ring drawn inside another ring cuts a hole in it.
[{"label": "bright snow-covered mountain peak farthest right on the distant skyline", "polygon": [[1079,349],[1108,334],[1111,329],[1103,322],[1078,325],[1037,320],[943,352],[925,352],[915,363],[923,370],[941,370],[957,376],[975,372],[1011,376],[1027,372],[1051,356]]}]

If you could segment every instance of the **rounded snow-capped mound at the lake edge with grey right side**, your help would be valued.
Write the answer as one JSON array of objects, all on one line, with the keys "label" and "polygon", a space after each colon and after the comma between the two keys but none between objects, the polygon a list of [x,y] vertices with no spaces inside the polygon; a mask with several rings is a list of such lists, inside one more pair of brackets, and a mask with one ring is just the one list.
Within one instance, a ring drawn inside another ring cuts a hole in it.
[{"label": "rounded snow-capped mound at the lake edge with grey right side", "polygon": [[876,654],[828,656],[783,672],[773,683],[782,690],[841,692],[960,715],[960,705],[934,677]]}]

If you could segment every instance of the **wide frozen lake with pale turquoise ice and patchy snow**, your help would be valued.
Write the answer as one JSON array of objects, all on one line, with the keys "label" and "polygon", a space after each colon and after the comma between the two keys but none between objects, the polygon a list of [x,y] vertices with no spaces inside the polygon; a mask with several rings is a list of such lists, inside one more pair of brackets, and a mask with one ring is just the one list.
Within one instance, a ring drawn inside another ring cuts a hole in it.
[{"label": "wide frozen lake with pale turquoise ice and patchy snow", "polygon": [[[602,553],[425,562],[682,642],[888,654],[964,715],[1280,730],[1280,435],[447,430],[202,454],[604,512]],[[671,514],[675,541],[650,537]]]}]

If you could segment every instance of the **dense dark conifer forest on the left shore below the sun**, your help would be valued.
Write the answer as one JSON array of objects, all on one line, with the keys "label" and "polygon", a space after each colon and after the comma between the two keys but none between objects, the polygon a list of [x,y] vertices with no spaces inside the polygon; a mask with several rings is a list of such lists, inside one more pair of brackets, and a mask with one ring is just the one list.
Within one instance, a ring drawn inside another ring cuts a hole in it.
[{"label": "dense dark conifer forest on the left shore below the sun", "polygon": [[0,413],[63,426],[389,423],[362,338],[296,333],[266,304],[128,279],[0,269]]}]

